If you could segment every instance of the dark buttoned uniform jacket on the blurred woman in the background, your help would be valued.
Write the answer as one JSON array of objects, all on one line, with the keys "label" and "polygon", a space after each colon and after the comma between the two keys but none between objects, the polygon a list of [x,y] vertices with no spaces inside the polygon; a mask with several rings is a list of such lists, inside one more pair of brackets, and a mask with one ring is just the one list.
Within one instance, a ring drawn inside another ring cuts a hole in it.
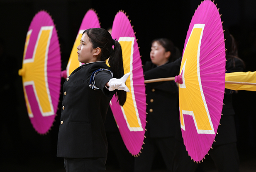
[{"label": "dark buttoned uniform jacket on the blurred woman in the background", "polygon": [[[168,63],[161,67],[168,66]],[[158,78],[156,69],[152,62],[146,62],[143,66],[145,79],[149,77]],[[159,69],[158,69],[159,71]],[[178,68],[173,67],[171,76],[177,75]],[[149,75],[149,76],[148,76]],[[168,77],[171,77],[168,76]],[[146,84],[147,108],[146,133],[145,136],[151,138],[175,136],[176,126],[179,124],[178,109],[178,87],[174,81],[163,81]]]}]

